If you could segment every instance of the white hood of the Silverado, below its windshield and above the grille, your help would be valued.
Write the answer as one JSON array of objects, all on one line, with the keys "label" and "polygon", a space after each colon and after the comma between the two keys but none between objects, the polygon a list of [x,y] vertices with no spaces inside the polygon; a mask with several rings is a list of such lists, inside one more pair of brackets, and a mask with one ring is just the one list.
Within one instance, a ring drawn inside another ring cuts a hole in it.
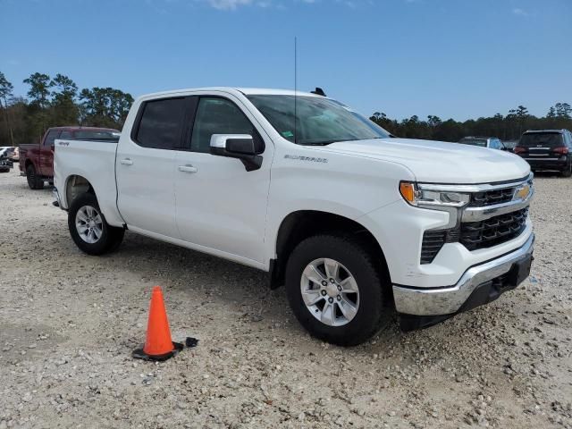
[{"label": "white hood of the Silverado, below its windshield and above the grille", "polygon": [[530,166],[520,156],[497,149],[417,139],[341,141],[324,150],[401,164],[416,181],[486,183],[525,177]]}]

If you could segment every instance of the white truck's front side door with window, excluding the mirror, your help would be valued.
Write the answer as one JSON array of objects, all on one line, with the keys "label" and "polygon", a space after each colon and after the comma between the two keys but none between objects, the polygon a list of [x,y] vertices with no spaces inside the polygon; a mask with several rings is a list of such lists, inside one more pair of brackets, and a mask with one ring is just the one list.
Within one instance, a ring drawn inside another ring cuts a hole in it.
[{"label": "white truck's front side door with window, excluding the mirror", "polygon": [[[224,252],[227,257],[264,262],[272,141],[253,124],[256,120],[239,99],[197,98],[195,120],[186,137],[188,150],[177,152],[175,163],[176,216],[181,240],[205,250]],[[262,167],[247,172],[239,159],[211,155],[213,134],[256,136],[255,141],[265,145]]]}]

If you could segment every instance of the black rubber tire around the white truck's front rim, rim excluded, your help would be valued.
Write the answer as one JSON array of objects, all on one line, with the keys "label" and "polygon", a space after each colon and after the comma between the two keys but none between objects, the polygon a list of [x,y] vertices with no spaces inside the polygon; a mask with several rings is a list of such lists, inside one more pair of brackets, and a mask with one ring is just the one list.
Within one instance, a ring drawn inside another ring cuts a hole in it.
[{"label": "black rubber tire around the white truck's front rim, rim excluded", "polygon": [[[339,262],[357,282],[357,313],[341,326],[319,321],[302,299],[302,273],[308,264],[319,258],[331,258]],[[388,282],[388,279],[376,269],[371,254],[350,237],[316,235],[303,240],[294,248],[286,265],[286,293],[299,323],[315,338],[340,346],[355,346],[367,341],[383,326],[391,323],[392,311],[385,306],[387,292],[382,282]]]}]

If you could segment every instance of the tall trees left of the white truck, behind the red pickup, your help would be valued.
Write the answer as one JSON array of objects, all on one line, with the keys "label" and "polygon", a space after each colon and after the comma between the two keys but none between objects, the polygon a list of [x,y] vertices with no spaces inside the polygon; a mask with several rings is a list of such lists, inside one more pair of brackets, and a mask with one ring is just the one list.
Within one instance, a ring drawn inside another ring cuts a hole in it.
[{"label": "tall trees left of the white truck, behind the red pickup", "polygon": [[38,142],[50,127],[82,125],[122,129],[133,97],[115,88],[83,88],[68,76],[32,73],[26,97],[0,71],[0,146]]}]

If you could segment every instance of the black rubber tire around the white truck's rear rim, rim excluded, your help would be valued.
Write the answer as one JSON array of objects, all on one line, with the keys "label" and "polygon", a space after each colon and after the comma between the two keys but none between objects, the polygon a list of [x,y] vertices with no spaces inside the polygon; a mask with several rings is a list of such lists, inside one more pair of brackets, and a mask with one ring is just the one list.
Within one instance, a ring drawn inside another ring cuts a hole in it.
[{"label": "black rubber tire around the white truck's rear rim, rim excluded", "polygon": [[[80,237],[80,231],[78,231],[78,228],[76,227],[76,215],[84,206],[95,208],[97,210],[97,214],[101,216],[102,233],[96,242],[89,243],[82,239]],[[90,193],[80,195],[80,197],[75,198],[71,203],[70,210],[68,212],[68,228],[70,229],[70,235],[73,242],[81,251],[88,255],[103,255],[114,251],[122,243],[123,234],[125,233],[122,228],[111,226],[105,221],[105,216],[101,213],[96,196]]]}]

